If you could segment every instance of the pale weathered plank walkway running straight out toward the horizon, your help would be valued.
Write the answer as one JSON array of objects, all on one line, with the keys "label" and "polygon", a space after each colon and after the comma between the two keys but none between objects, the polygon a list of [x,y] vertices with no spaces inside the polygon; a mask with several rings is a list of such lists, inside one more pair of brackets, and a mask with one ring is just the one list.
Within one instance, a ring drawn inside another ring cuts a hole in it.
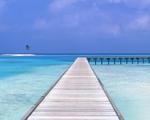
[{"label": "pale weathered plank walkway running straight out toward the horizon", "polygon": [[123,120],[86,58],[78,58],[23,120]]}]

